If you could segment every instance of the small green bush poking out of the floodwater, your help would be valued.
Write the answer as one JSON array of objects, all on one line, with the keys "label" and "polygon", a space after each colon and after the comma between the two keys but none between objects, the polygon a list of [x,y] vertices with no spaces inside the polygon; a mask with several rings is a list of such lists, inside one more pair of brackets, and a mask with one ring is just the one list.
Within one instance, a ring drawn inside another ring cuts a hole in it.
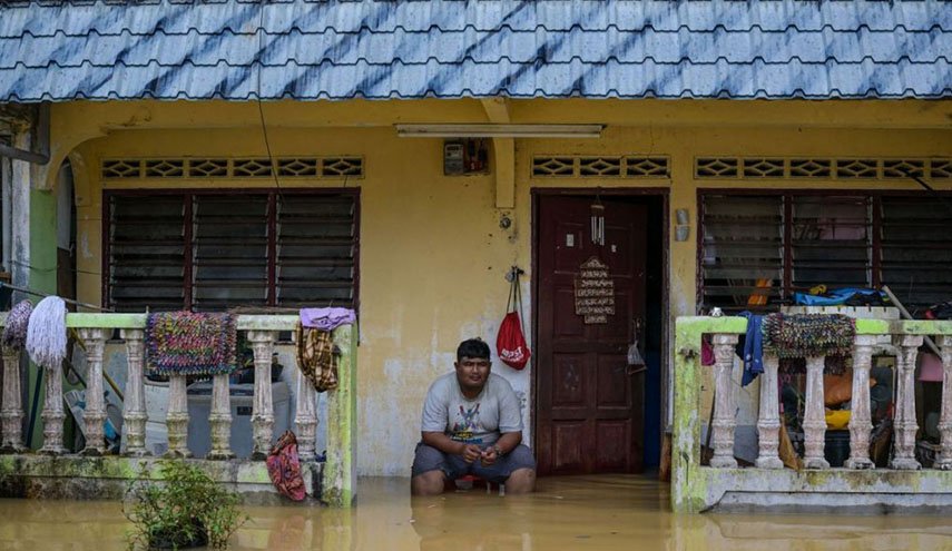
[{"label": "small green bush poking out of the floodwater", "polygon": [[248,520],[238,510],[238,494],[181,460],[163,461],[159,471],[161,482],[153,481],[144,466],[126,492],[129,549],[228,547]]}]

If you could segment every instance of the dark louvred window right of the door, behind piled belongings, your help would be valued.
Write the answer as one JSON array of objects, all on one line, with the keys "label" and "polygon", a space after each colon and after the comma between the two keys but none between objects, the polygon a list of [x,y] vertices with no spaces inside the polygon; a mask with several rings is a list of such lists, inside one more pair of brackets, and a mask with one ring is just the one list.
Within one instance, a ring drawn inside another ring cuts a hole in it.
[{"label": "dark louvred window right of the door, behind piled belongings", "polygon": [[792,293],[821,284],[889,285],[910,311],[952,297],[952,214],[935,197],[767,190],[699,195],[700,308],[775,308]]}]

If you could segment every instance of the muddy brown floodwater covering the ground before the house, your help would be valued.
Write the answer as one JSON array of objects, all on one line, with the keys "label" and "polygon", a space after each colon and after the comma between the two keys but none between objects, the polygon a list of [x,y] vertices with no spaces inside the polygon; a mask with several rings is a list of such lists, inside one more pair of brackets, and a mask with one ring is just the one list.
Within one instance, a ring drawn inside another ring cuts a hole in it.
[{"label": "muddy brown floodwater covering the ground before the house", "polygon": [[[529,496],[482,489],[412,499],[406,479],[366,479],[360,504],[246,508],[236,550],[714,550],[952,549],[942,516],[674,515],[668,488],[641,476],[539,480]],[[116,502],[0,500],[0,550],[125,549]]]}]

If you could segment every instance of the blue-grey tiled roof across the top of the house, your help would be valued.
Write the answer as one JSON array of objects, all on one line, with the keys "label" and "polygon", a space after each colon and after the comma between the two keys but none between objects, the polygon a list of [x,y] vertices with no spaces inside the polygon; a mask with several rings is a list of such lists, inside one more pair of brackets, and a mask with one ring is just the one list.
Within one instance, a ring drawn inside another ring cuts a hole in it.
[{"label": "blue-grey tiled roof across the top of the house", "polygon": [[952,96],[943,0],[0,6],[0,101]]}]

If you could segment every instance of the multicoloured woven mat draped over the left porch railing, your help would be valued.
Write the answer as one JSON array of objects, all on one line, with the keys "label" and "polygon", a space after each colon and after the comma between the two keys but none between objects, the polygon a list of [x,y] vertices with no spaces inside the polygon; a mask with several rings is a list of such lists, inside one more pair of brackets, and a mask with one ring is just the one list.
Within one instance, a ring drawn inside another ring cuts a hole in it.
[{"label": "multicoloured woven mat draped over the left porch railing", "polygon": [[237,365],[230,314],[149,314],[145,340],[150,375],[216,375],[232,373]]}]

